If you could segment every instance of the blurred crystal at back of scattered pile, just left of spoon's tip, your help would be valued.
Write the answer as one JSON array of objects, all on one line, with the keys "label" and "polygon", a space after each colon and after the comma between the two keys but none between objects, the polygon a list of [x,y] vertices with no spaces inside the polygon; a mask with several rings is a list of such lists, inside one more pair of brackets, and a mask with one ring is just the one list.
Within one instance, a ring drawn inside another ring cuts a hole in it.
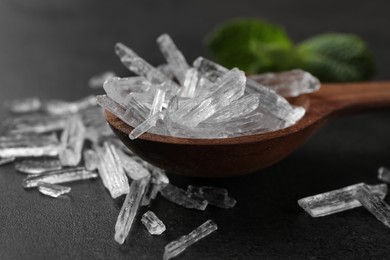
[{"label": "blurred crystal at back of scattered pile, just left of spoon's tip", "polygon": [[44,103],[43,108],[50,115],[67,115],[78,113],[93,106],[96,106],[96,97],[87,96],[74,102],[50,100]]}]

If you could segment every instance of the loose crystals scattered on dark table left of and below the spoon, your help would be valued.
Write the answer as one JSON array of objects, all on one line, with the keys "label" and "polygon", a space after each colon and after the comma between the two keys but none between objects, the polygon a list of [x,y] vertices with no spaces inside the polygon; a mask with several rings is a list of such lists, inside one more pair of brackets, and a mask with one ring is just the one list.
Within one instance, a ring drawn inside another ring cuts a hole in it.
[{"label": "loose crystals scattered on dark table left of and below the spoon", "polygon": [[[93,78],[90,86],[102,84],[111,75]],[[95,97],[75,102],[27,98],[8,101],[5,107],[12,115],[1,127],[0,165],[14,162],[18,172],[27,174],[24,188],[38,188],[55,198],[71,191],[71,187],[58,184],[100,176],[112,198],[126,196],[115,225],[115,240],[120,244],[127,238],[139,208],[150,205],[158,193],[196,210],[205,210],[207,205],[228,209],[236,204],[226,189],[189,185],[183,190],[170,184],[162,169],[132,154],[113,136]],[[141,223],[153,235],[166,230],[150,210],[142,215]],[[212,220],[206,221],[167,244],[163,258],[175,257],[216,229]]]}]

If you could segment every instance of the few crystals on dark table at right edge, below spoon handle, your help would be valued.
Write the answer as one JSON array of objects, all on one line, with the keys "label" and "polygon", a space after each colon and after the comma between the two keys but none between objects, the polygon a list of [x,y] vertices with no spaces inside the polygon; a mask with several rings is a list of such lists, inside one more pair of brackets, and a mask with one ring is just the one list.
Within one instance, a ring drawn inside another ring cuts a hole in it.
[{"label": "few crystals on dark table at right edge, below spoon handle", "polygon": [[[379,168],[378,179],[390,183],[390,170],[385,167]],[[364,206],[390,228],[390,206],[384,201],[387,195],[386,183],[378,185],[358,183],[300,199],[298,204],[312,217],[322,217]]]}]

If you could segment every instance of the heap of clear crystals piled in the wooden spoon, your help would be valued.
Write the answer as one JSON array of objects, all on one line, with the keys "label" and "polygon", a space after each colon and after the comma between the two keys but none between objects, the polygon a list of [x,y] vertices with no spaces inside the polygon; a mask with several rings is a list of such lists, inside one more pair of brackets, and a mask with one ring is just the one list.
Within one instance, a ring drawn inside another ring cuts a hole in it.
[{"label": "heap of clear crystals piled in the wooden spoon", "polygon": [[117,43],[121,62],[138,76],[108,79],[107,95],[97,97],[102,107],[134,128],[130,139],[145,132],[226,138],[275,131],[305,114],[303,107],[290,105],[278,93],[297,96],[320,88],[318,79],[302,70],[263,74],[255,81],[203,57],[191,67],[167,34],[157,44],[167,64],[153,67]]}]

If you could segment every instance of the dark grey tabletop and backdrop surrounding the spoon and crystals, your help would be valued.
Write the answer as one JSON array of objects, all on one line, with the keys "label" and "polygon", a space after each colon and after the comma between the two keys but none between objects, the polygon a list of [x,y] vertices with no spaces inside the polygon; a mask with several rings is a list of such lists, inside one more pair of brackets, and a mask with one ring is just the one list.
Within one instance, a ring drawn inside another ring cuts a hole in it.
[{"label": "dark grey tabletop and backdrop surrounding the spoon and crystals", "polygon": [[[328,31],[358,34],[373,50],[376,80],[389,80],[389,3],[1,0],[0,101],[97,94],[86,86],[90,76],[107,69],[128,75],[113,51],[118,41],[157,65],[163,59],[155,39],[167,32],[192,61],[207,54],[202,40],[211,28],[234,17],[282,24],[296,42]],[[55,200],[24,190],[25,176],[3,166],[0,259],[159,259],[169,241],[207,219],[219,230],[178,259],[388,258],[390,230],[364,209],[311,218],[296,201],[358,182],[378,183],[378,167],[390,166],[389,116],[383,110],[337,119],[287,159],[251,175],[170,176],[181,187],[225,187],[237,206],[198,212],[158,197],[151,209],[167,231],[152,237],[137,219],[124,246],[114,241],[123,198],[111,199],[100,180],[73,183],[69,197]]]}]

